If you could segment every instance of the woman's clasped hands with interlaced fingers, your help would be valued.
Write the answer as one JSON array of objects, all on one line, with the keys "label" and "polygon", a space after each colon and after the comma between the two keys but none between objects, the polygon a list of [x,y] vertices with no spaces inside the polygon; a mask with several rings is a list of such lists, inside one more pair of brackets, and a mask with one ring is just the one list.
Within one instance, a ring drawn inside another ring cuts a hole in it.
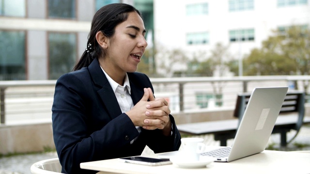
[{"label": "woman's clasped hands with interlaced fingers", "polygon": [[126,114],[135,126],[146,130],[171,131],[170,109],[164,98],[155,99],[151,88],[144,88],[142,99]]}]

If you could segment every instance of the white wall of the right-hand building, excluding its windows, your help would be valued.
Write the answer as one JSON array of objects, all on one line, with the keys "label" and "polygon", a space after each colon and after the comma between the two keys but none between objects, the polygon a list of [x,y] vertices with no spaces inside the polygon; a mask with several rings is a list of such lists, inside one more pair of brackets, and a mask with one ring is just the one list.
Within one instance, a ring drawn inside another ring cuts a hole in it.
[{"label": "white wall of the right-hand building, excluding its windows", "polygon": [[[186,4],[207,2],[206,16],[186,16]],[[190,54],[197,50],[209,50],[218,42],[229,44],[229,30],[255,30],[255,41],[231,43],[230,52],[237,58],[239,51],[248,54],[260,47],[272,29],[293,24],[310,26],[310,2],[308,5],[277,7],[277,0],[254,0],[254,10],[229,12],[228,0],[154,0],[155,43],[165,48],[180,48]],[[186,33],[208,31],[210,43],[186,45]]]}]

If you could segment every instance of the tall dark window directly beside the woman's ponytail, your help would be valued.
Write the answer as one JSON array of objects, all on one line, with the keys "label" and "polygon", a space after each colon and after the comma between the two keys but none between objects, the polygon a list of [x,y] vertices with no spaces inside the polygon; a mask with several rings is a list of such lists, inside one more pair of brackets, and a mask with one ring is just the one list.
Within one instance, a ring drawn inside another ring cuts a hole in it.
[{"label": "tall dark window directly beside the woman's ponytail", "polygon": [[48,33],[49,79],[72,71],[77,60],[75,33]]}]

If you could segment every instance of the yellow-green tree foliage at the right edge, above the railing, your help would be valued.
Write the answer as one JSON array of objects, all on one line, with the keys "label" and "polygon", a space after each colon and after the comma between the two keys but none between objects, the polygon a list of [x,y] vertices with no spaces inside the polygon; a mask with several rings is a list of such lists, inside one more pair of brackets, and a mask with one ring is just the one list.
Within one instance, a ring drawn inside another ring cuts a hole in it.
[{"label": "yellow-green tree foliage at the right edge, above the railing", "polygon": [[[243,60],[244,75],[310,74],[310,31],[294,26],[273,31]],[[235,71],[233,67],[231,71]]]}]

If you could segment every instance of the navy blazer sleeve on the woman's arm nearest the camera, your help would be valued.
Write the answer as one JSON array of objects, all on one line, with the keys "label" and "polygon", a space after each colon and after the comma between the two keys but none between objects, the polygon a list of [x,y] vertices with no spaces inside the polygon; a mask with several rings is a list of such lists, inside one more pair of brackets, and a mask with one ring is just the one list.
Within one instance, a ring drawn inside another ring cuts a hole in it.
[{"label": "navy blazer sleeve on the woman's arm nearest the camera", "polygon": [[[116,158],[118,153],[122,153],[117,149],[129,145],[139,135],[126,114],[111,119],[108,114],[97,111],[103,106],[96,99],[96,94],[93,94],[91,85],[87,85],[92,84],[88,79],[80,79],[74,73],[69,73],[60,77],[56,83],[52,126],[64,173],[91,172],[80,171],[79,164]],[[96,103],[100,105],[97,108],[94,106]]]}]

